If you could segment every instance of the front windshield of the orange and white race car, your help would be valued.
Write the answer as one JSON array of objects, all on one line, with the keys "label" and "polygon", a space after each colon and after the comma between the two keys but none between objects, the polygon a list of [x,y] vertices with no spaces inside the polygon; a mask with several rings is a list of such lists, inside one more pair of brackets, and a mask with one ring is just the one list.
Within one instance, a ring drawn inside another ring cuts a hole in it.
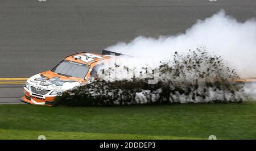
[{"label": "front windshield of the orange and white race car", "polygon": [[89,69],[89,65],[63,60],[51,71],[66,77],[85,78]]}]

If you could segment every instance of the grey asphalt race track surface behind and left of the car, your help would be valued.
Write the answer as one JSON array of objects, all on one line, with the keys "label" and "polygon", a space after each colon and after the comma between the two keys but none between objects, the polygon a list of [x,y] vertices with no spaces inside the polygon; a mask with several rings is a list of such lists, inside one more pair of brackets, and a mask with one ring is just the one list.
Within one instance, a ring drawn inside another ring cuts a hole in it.
[{"label": "grey asphalt race track surface behind and left of the car", "polygon": [[[0,1],[0,78],[30,77],[63,57],[97,52],[139,35],[172,35],[224,9],[240,21],[256,1]],[[114,51],[114,50],[113,50]],[[22,85],[0,85],[0,103],[17,103]]]}]

